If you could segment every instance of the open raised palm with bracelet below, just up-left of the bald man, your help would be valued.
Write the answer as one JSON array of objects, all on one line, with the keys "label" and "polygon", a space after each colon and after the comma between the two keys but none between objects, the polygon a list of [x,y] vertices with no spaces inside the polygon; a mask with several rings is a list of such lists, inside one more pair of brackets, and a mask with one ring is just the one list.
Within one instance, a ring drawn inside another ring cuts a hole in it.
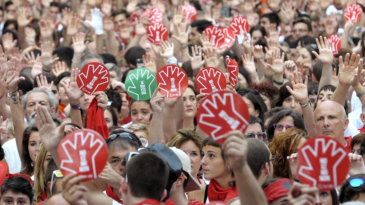
[{"label": "open raised palm with bracelet below, just up-left of the bald man", "polygon": [[293,75],[289,74],[293,89],[289,86],[286,87],[290,94],[292,94],[293,97],[299,101],[300,105],[306,105],[308,102],[308,76],[306,75],[306,80],[303,83],[300,72],[298,72],[298,75],[296,72],[293,72]]}]

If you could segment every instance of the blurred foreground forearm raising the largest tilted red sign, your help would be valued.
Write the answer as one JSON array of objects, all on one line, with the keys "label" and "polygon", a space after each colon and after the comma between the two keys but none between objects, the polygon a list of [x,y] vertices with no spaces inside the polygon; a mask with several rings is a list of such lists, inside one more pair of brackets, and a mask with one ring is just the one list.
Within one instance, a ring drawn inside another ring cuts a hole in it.
[{"label": "blurred foreground forearm raising the largest tilted red sign", "polygon": [[247,162],[241,170],[234,170],[236,187],[241,204],[265,205],[268,204],[261,186],[258,184]]}]

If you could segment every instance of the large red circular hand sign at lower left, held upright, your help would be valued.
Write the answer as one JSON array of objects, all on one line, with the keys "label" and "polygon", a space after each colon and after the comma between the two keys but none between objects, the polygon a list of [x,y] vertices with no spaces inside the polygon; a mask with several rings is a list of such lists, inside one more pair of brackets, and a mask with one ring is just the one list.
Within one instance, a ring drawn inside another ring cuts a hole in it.
[{"label": "large red circular hand sign at lower left, held upright", "polygon": [[58,148],[59,169],[64,176],[71,173],[95,179],[104,169],[108,159],[105,139],[99,133],[83,129],[68,134]]}]

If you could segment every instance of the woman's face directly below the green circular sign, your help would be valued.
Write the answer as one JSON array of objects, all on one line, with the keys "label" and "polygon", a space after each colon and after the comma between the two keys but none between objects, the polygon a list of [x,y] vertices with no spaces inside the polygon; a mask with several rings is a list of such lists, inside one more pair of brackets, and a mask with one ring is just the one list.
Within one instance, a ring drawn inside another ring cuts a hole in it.
[{"label": "woman's face directly below the green circular sign", "polygon": [[152,109],[145,101],[135,101],[131,105],[131,119],[133,124],[143,123],[149,125]]}]

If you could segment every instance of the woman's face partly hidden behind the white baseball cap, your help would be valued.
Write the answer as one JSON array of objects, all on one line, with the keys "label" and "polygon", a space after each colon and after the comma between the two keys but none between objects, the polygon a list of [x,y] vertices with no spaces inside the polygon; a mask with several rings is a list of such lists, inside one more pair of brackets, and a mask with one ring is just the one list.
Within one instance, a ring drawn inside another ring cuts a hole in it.
[{"label": "woman's face partly hidden behind the white baseball cap", "polygon": [[190,140],[181,143],[178,149],[183,150],[189,156],[191,175],[195,177],[198,174],[201,165],[200,147]]}]

